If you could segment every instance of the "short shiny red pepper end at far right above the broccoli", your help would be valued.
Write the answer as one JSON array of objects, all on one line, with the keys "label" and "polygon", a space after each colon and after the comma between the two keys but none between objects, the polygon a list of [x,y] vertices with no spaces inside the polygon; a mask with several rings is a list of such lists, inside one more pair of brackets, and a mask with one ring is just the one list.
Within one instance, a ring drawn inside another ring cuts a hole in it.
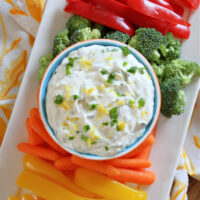
[{"label": "short shiny red pepper end at far right above the broccoli", "polygon": [[190,28],[182,24],[171,25],[169,32],[171,32],[174,37],[188,39],[190,37]]}]

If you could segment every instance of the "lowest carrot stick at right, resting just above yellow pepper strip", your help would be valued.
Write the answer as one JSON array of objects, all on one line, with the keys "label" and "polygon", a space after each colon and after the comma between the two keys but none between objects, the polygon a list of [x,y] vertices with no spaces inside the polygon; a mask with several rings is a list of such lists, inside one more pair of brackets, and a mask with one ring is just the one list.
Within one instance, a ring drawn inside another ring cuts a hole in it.
[{"label": "lowest carrot stick at right, resting just above yellow pepper strip", "polygon": [[143,185],[151,185],[155,179],[156,175],[150,171],[138,171],[130,169],[119,169],[120,175],[111,176],[111,178],[120,182],[130,182]]}]

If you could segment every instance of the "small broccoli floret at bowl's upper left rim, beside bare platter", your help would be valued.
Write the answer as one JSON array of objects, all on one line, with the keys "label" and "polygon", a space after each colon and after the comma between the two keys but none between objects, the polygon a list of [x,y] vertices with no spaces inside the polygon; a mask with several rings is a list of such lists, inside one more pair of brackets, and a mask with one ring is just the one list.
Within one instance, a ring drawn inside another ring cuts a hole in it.
[{"label": "small broccoli floret at bowl's upper left rim, beside bare platter", "polygon": [[69,44],[70,40],[68,37],[68,29],[64,29],[57,33],[54,39],[54,46],[53,46],[53,55],[58,55],[61,51],[63,51]]}]

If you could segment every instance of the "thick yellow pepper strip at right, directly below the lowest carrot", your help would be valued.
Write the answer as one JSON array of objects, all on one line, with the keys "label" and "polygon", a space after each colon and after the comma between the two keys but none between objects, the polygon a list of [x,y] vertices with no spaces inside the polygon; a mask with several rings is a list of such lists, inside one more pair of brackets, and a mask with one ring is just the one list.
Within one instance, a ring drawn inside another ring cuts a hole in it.
[{"label": "thick yellow pepper strip at right, directly below the lowest carrot", "polygon": [[110,200],[147,200],[147,193],[127,187],[105,175],[79,168],[75,183]]}]

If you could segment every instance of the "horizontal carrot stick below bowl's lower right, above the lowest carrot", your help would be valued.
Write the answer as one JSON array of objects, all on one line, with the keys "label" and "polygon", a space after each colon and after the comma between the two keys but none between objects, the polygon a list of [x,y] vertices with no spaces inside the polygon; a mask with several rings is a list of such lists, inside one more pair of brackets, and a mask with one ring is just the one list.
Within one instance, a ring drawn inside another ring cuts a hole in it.
[{"label": "horizontal carrot stick below bowl's lower right, above the lowest carrot", "polygon": [[146,159],[124,159],[117,158],[108,161],[108,164],[119,168],[148,168],[151,166],[151,162]]}]

